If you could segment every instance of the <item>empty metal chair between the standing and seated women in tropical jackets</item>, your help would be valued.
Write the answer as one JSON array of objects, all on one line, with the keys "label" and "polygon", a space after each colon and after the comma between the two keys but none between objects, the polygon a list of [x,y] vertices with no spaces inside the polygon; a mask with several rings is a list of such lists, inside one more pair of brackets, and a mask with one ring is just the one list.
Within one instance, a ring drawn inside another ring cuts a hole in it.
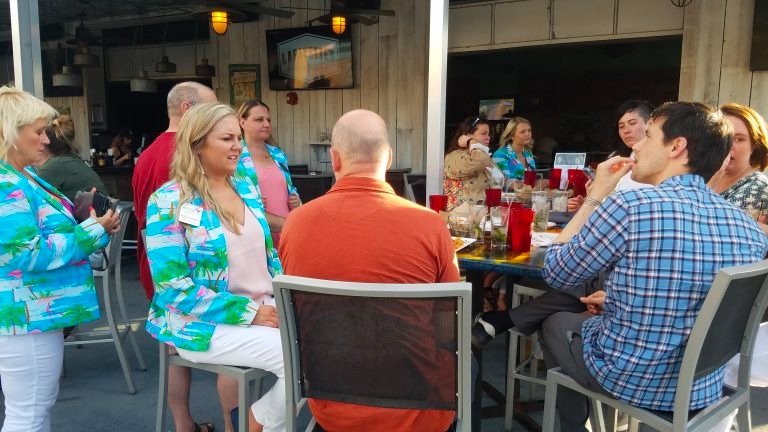
[{"label": "empty metal chair between the standing and seated women in tropical jackets", "polygon": [[[109,239],[109,245],[106,249],[106,268],[104,270],[94,270],[94,279],[100,278],[101,291],[104,297],[104,312],[107,317],[107,330],[93,330],[93,331],[77,331],[72,332],[67,337],[64,345],[88,345],[96,343],[111,342],[115,345],[117,351],[117,357],[120,360],[120,366],[123,369],[123,376],[125,383],[128,385],[128,392],[136,394],[136,386],[133,384],[133,377],[131,376],[130,365],[125,355],[125,348],[123,344],[127,338],[133,352],[136,355],[136,360],[139,363],[139,370],[146,371],[147,367],[144,364],[144,358],[139,351],[139,345],[136,343],[136,337],[133,334],[133,328],[128,320],[128,314],[125,309],[125,300],[123,298],[123,284],[122,284],[122,264],[121,264],[121,252],[123,245],[123,236],[128,225],[128,217],[133,209],[133,203],[128,201],[120,201],[117,206],[117,214],[120,217],[120,231],[116,234],[112,234]],[[115,321],[114,314],[112,312],[112,293],[110,289],[110,278],[114,277],[115,280],[115,297],[117,298],[118,308],[120,310],[121,323]],[[120,327],[118,324],[122,324]]]}]

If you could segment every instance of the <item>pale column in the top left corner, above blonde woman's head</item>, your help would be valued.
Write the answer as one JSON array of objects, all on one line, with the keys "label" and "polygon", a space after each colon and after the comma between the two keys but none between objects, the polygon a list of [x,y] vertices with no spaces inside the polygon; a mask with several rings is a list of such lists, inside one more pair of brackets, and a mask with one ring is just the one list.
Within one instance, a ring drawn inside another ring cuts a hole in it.
[{"label": "pale column in the top left corner, above blonde woman's head", "polygon": [[40,20],[37,0],[10,0],[13,80],[16,87],[43,98]]}]

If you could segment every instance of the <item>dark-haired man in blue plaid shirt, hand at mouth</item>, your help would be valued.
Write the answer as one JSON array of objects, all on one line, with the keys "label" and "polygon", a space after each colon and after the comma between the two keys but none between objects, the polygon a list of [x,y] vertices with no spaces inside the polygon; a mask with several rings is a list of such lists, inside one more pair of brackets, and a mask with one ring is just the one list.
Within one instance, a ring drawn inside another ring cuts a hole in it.
[{"label": "dark-haired man in blue plaid shirt, hand at mouth", "polygon": [[[605,291],[585,299],[595,314],[560,312],[542,327],[547,367],[629,404],[671,411],[688,336],[720,268],[763,259],[768,239],[706,182],[731,148],[722,114],[699,103],[656,109],[635,160],[614,157],[547,251],[544,278],[576,286],[607,271]],[[653,188],[613,193],[629,171]],[[691,409],[722,395],[723,370],[697,380]],[[585,397],[563,389],[561,428],[585,430]]]}]

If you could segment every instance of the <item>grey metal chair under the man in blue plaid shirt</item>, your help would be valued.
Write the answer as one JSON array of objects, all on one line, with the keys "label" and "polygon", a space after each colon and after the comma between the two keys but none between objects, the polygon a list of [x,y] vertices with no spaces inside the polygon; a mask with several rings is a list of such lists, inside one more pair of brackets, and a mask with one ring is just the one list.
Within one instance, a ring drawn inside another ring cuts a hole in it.
[{"label": "grey metal chair under the man in blue plaid shirt", "polygon": [[[604,421],[600,404],[624,411],[636,421],[658,431],[708,431],[738,409],[738,430],[751,429],[749,411],[749,379],[755,335],[768,302],[768,260],[740,267],[721,269],[694,323],[683,354],[683,361],[675,390],[673,412],[650,411],[634,407],[601,393],[580,386],[560,368],[547,372],[547,391],[544,403],[542,430],[554,430],[557,387],[565,386],[597,402],[598,429]],[[742,311],[749,313],[734,313]],[[714,325],[713,325],[714,324]],[[723,397],[714,404],[689,411],[693,382],[722,367],[734,355],[740,354],[739,378],[735,388],[725,386]],[[594,405],[593,405],[594,406]]]}]

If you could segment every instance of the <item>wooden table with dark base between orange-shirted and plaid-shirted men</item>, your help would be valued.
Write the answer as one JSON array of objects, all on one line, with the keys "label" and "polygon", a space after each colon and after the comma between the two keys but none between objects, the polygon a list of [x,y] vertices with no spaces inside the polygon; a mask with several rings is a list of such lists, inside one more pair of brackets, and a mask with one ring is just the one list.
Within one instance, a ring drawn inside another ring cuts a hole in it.
[{"label": "wooden table with dark base between orange-shirted and plaid-shirted men", "polygon": [[[472,284],[472,315],[474,316],[476,313],[482,312],[483,276],[485,272],[540,279],[542,277],[541,270],[544,267],[544,255],[546,252],[547,248],[535,246],[531,247],[530,252],[524,253],[511,252],[509,250],[493,252],[491,251],[488,239],[483,244],[474,243],[457,252],[456,257],[459,260],[459,267],[467,271],[467,282]],[[472,417],[472,430],[477,432],[480,431],[481,418],[504,416],[506,396],[490,383],[483,381],[482,350],[473,347],[473,352],[478,363],[481,365],[478,371],[478,382],[481,385],[475,387],[475,401],[478,406],[475,407]],[[485,391],[497,405],[480,409],[481,391]],[[541,431],[541,426],[528,415],[529,411],[540,411],[543,409],[543,406],[540,407],[539,405],[541,404],[523,404],[515,397],[514,419],[529,431]]]}]

